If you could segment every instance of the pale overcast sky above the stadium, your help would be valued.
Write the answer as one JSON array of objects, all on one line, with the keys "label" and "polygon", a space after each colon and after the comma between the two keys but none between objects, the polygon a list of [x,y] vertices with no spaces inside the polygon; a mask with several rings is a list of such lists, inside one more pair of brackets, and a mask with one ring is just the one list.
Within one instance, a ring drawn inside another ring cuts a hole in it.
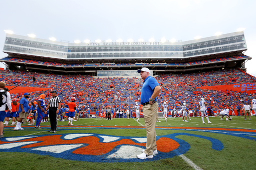
[{"label": "pale overcast sky above the stadium", "polygon": [[69,42],[151,37],[187,41],[243,27],[248,48],[244,54],[252,57],[245,66],[256,76],[256,0],[5,0],[0,4],[0,58],[7,56],[2,52],[3,30]]}]

